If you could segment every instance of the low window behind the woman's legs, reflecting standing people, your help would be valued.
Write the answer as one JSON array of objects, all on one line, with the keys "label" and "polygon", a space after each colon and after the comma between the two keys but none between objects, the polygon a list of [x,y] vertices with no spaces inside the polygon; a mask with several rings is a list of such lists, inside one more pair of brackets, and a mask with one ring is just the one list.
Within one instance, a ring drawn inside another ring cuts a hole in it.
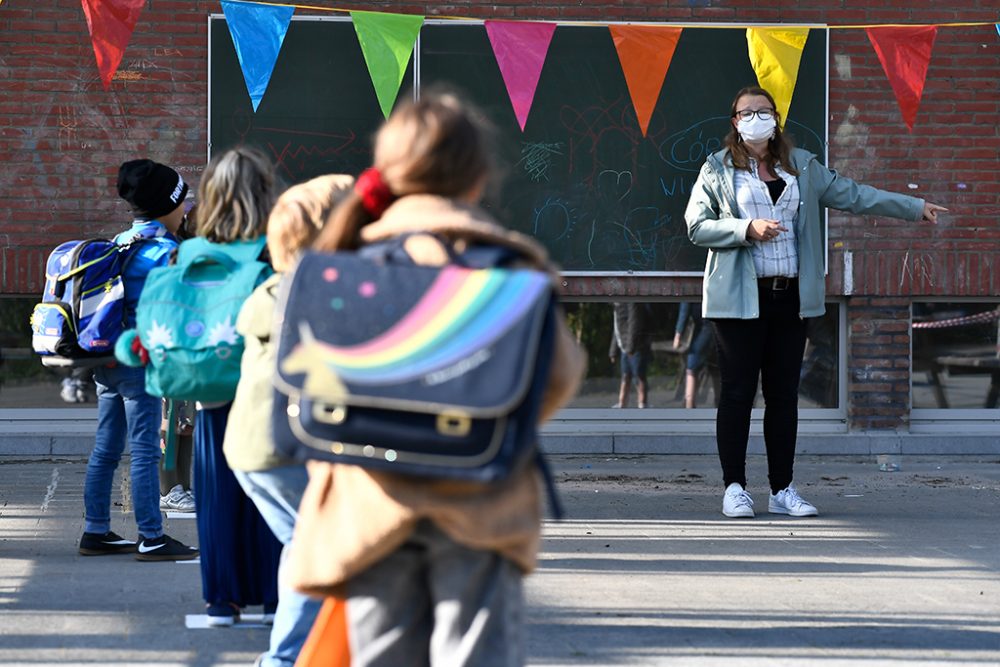
[{"label": "low window behind the woman's legs, reflecting standing people", "polygon": [[[719,368],[701,303],[566,303],[570,329],[587,351],[587,377],[571,408],[714,408]],[[799,406],[836,408],[839,306],[809,321]],[[764,401],[758,391],[756,407]]]}]

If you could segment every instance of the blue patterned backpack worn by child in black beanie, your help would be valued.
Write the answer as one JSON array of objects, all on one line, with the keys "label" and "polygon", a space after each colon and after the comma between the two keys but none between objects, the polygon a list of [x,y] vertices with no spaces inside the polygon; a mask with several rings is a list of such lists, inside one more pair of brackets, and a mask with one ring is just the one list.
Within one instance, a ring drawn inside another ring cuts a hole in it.
[{"label": "blue patterned backpack worn by child in black beanie", "polygon": [[[141,239],[137,239],[141,241]],[[67,241],[45,264],[45,291],[31,313],[31,345],[46,366],[114,360],[125,328],[122,272],[135,243]]]}]

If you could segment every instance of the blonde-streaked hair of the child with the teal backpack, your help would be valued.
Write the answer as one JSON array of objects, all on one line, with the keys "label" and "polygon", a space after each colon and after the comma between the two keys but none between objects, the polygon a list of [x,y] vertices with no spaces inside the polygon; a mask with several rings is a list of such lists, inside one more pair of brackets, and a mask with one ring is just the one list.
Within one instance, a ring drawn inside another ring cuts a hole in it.
[{"label": "blonde-streaked hair of the child with the teal backpack", "polygon": [[239,146],[216,155],[198,184],[195,234],[215,243],[259,238],[279,192],[274,167],[256,148]]}]

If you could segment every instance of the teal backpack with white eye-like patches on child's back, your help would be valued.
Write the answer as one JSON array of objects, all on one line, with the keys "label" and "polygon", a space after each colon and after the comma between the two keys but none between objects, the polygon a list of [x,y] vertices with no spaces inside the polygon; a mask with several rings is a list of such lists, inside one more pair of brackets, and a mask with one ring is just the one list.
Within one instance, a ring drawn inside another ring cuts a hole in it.
[{"label": "teal backpack with white eye-like patches on child's back", "polygon": [[146,366],[148,393],[203,402],[233,399],[243,357],[236,317],[250,293],[274,272],[260,260],[265,243],[188,239],[178,249],[176,264],[149,272],[136,328],[115,346],[122,363]]}]

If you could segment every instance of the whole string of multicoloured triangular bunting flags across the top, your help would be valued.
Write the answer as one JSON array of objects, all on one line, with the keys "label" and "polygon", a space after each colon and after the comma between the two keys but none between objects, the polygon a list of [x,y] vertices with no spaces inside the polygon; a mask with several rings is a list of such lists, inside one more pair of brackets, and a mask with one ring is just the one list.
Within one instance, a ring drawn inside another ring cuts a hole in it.
[{"label": "whole string of multicoloured triangular bunting flags across the top", "polygon": [[[2,3],[3,0],[0,0]],[[128,46],[145,0],[81,0],[101,81],[111,85]],[[316,7],[311,5],[221,0],[233,46],[239,58],[254,112],[267,91],[288,25],[296,9],[347,13],[385,116],[392,110],[407,64],[413,53],[423,16]],[[454,21],[479,19],[435,16]],[[503,77],[517,122],[524,131],[531,112],[538,79],[552,35],[560,25],[606,26],[611,32],[629,95],[643,136],[659,99],[681,33],[686,28],[725,28],[733,25],[702,23],[605,24],[589,21],[483,21],[497,66]],[[794,25],[746,28],[747,52],[758,83],[775,98],[781,118],[786,118],[795,91],[799,63],[809,30],[863,29],[878,56],[902,113],[912,132],[923,95],[927,68],[938,28],[994,26],[1000,23],[960,22],[939,24]]]}]

